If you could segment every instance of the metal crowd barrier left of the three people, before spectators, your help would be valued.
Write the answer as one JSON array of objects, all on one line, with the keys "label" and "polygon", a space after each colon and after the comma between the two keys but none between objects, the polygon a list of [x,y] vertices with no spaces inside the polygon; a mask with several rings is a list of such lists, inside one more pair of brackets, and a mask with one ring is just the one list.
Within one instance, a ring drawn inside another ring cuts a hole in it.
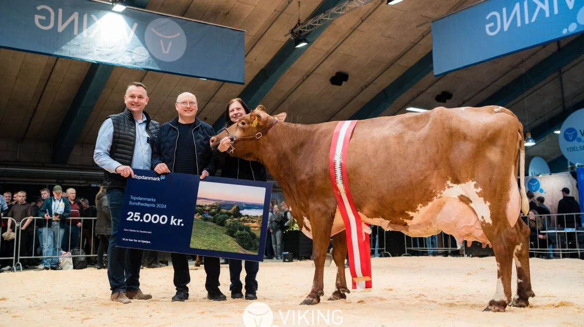
[{"label": "metal crowd barrier left of the three people, before spectators", "polygon": [[[13,256],[11,258],[0,258],[2,259],[12,259],[13,272],[16,270],[22,271],[23,260],[40,260],[41,265],[50,267],[57,266],[58,260],[61,258],[61,251],[70,252],[73,249],[88,249],[88,253],[77,254],[67,256],[67,258],[90,258],[96,257],[96,236],[95,236],[95,221],[96,217],[75,217],[72,220],[64,219],[64,224],[60,222],[52,221],[52,224],[59,224],[59,228],[47,227],[47,222],[45,218],[42,217],[32,217],[33,222],[30,225],[33,228],[27,228],[26,230],[21,229],[26,219],[22,222],[16,222],[13,218],[4,217],[2,220],[11,219],[14,224],[11,228],[12,231],[16,233],[16,238],[12,241],[5,241],[3,238],[0,239],[0,249],[2,249],[2,241],[13,242]],[[78,224],[71,224],[74,220],[78,220]],[[44,226],[44,227],[41,227]],[[4,228],[3,228],[4,232]],[[27,242],[23,244],[20,240],[23,238],[23,233],[28,233]],[[44,235],[46,233],[46,235]],[[49,236],[50,235],[50,236]],[[56,239],[55,239],[56,238]],[[5,244],[5,246],[8,246]],[[22,247],[26,246],[26,249]],[[23,251],[25,250],[25,251]],[[32,250],[32,251],[31,251]],[[55,252],[56,253],[53,253]],[[0,252],[2,253],[2,252]],[[1,256],[1,255],[0,255]],[[107,257],[107,247],[103,253],[103,258]],[[56,260],[47,260],[56,259]]]}]

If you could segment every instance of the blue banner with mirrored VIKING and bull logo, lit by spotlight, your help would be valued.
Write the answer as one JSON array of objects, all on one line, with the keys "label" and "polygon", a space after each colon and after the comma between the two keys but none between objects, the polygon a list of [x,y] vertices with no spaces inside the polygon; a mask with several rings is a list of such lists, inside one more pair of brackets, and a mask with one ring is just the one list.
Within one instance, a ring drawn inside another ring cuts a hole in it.
[{"label": "blue banner with mirrored VIKING and bull logo, lit by spotlight", "polygon": [[0,0],[0,47],[244,83],[244,32],[85,0]]}]

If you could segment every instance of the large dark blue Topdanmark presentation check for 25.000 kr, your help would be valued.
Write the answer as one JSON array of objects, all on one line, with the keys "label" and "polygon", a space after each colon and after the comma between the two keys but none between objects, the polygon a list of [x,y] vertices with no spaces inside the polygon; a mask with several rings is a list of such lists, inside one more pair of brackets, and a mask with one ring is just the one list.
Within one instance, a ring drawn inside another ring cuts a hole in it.
[{"label": "large dark blue Topdanmark presentation check for 25.000 kr", "polygon": [[117,244],[263,261],[272,184],[134,169]]}]

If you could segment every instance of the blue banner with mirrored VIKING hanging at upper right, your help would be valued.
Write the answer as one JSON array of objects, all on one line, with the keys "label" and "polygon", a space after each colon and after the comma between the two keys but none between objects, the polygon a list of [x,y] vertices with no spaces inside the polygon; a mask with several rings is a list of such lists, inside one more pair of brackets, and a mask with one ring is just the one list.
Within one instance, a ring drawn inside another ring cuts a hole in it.
[{"label": "blue banner with mirrored VIKING hanging at upper right", "polygon": [[583,1],[488,0],[432,23],[434,75],[584,31]]}]

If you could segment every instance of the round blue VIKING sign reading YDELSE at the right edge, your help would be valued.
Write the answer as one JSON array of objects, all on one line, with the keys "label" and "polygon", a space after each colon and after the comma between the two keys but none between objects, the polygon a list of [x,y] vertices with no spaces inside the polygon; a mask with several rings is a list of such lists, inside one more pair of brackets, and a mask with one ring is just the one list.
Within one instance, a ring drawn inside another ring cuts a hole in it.
[{"label": "round blue VIKING sign reading YDELSE at the right edge", "polygon": [[559,148],[570,162],[584,163],[584,109],[573,112],[562,124]]}]

